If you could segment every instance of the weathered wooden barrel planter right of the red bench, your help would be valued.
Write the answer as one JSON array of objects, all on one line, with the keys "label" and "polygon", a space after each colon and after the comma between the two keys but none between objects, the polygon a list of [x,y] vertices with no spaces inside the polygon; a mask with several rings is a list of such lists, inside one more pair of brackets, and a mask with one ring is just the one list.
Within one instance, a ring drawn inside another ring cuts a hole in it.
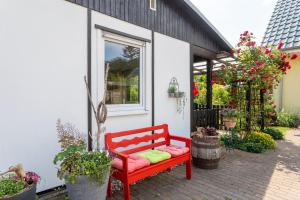
[{"label": "weathered wooden barrel planter right of the red bench", "polygon": [[193,137],[193,164],[202,169],[216,169],[221,157],[219,136]]}]

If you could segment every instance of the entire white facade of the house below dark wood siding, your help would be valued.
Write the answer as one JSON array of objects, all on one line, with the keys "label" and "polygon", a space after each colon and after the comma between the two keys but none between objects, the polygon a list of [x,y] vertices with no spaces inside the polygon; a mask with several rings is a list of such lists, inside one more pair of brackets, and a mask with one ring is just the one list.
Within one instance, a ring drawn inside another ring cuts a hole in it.
[{"label": "entire white facade of the house below dark wood siding", "polygon": [[[0,171],[23,163],[42,177],[39,191],[62,184],[52,161],[59,151],[58,118],[87,130],[87,9],[63,0],[0,4]],[[103,32],[95,24],[151,40],[150,30],[92,12],[92,94],[103,95]],[[190,46],[155,33],[155,124],[190,134]],[[152,43],[145,43],[143,109],[110,112],[107,131],[151,125]],[[176,77],[186,93],[183,113],[167,94]],[[93,118],[92,118],[93,119]],[[95,127],[94,127],[95,130]]]}]

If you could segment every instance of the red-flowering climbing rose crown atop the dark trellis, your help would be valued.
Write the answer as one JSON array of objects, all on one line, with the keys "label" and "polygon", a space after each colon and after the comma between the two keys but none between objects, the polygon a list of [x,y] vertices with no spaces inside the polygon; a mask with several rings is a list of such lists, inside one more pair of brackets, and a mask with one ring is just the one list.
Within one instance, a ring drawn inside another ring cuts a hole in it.
[{"label": "red-flowering climbing rose crown atop the dark trellis", "polygon": [[297,58],[296,54],[282,52],[283,45],[280,41],[277,46],[258,46],[253,33],[245,31],[232,51],[236,64],[222,65],[220,74],[228,85],[251,82],[255,89],[271,93],[272,88],[277,87],[282,76],[291,69],[288,60]]}]

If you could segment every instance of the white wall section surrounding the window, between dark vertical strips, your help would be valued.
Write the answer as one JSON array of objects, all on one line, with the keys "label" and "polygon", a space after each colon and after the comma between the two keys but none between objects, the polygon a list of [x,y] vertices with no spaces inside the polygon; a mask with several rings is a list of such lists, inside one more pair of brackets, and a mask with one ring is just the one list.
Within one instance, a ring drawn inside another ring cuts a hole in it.
[{"label": "white wall section surrounding the window, between dark vertical strips", "polygon": [[[104,90],[104,43],[102,31],[96,29],[95,24],[149,40],[151,40],[151,31],[98,12],[92,12],[92,90],[93,96],[96,97],[94,101],[97,102],[102,99]],[[146,109],[131,113],[120,112],[119,115],[109,116],[105,124],[107,132],[151,126],[151,45],[151,43],[146,43]],[[95,123],[93,129],[96,130]],[[103,145],[103,137],[101,144]]]}]

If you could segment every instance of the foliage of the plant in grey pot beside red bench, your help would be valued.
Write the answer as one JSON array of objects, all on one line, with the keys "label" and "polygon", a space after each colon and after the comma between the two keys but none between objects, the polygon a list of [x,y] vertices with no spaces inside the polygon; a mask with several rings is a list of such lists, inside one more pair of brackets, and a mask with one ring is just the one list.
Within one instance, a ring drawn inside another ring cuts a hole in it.
[{"label": "foliage of the plant in grey pot beside red bench", "polygon": [[111,158],[107,152],[87,151],[85,140],[71,124],[61,124],[58,120],[57,133],[61,151],[55,156],[53,163],[59,165],[58,178],[76,183],[77,177],[83,175],[102,185],[111,166]]}]

